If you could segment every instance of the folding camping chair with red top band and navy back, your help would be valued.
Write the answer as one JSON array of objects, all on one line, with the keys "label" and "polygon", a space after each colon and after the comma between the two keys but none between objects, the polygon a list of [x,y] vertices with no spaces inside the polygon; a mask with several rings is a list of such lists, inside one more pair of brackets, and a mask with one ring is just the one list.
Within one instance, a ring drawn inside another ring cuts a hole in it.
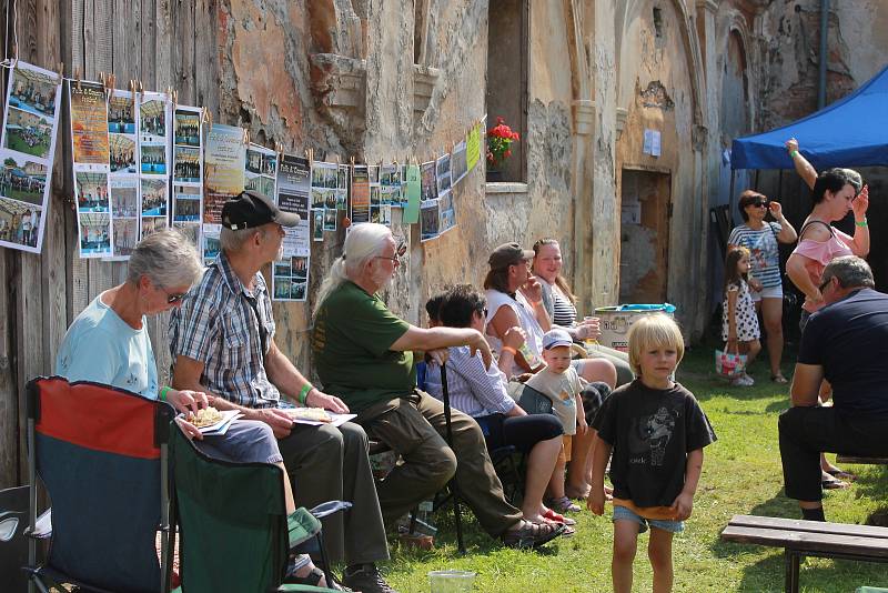
[{"label": "folding camping chair with red top band and navy back", "polygon": [[[46,563],[29,542],[29,591],[165,593],[172,560],[167,439],[173,409],[98,383],[38,378],[28,402],[29,534],[37,479],[52,502]],[[161,557],[155,539],[161,532]]]}]

